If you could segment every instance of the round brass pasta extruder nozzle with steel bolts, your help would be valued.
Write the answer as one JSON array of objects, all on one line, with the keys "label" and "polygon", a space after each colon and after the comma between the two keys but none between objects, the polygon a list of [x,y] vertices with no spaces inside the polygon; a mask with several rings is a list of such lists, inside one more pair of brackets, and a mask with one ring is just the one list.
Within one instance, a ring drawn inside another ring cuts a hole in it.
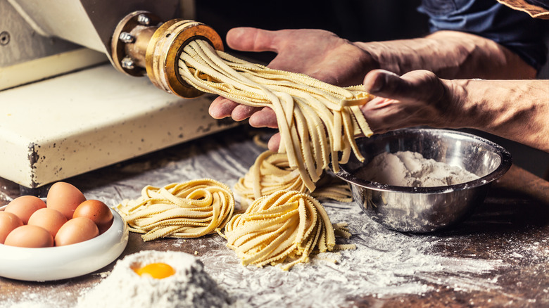
[{"label": "round brass pasta extruder nozzle with steel bolts", "polygon": [[111,39],[113,65],[127,75],[147,75],[158,88],[184,98],[200,96],[179,76],[179,56],[190,41],[203,39],[223,50],[213,28],[194,20],[172,19],[165,23],[148,11],[135,11],[120,20]]}]

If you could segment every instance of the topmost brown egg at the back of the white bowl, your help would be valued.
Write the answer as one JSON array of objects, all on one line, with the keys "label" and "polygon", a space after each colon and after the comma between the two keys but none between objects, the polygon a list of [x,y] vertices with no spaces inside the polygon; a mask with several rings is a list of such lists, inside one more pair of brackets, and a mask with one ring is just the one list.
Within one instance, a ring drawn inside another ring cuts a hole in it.
[{"label": "topmost brown egg at the back of the white bowl", "polygon": [[86,200],[84,194],[71,184],[57,182],[49,188],[46,204],[49,208],[61,212],[68,219],[80,203]]}]

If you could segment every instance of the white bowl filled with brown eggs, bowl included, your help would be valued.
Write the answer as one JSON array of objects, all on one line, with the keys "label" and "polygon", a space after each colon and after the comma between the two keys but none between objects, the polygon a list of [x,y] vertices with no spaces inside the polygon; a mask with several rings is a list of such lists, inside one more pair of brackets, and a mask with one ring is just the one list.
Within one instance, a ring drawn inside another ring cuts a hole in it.
[{"label": "white bowl filled with brown eggs, bowl included", "polygon": [[118,212],[57,182],[45,202],[23,195],[0,209],[0,276],[23,281],[82,276],[117,259],[127,240]]}]

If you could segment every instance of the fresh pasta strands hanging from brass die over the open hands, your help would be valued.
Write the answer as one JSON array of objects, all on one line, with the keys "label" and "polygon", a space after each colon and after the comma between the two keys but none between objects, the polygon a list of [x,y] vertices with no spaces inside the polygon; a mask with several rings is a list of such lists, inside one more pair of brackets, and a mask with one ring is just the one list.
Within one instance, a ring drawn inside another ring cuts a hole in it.
[{"label": "fresh pasta strands hanging from brass die over the open hands", "polygon": [[348,161],[351,150],[363,160],[355,136],[370,136],[372,131],[358,106],[372,96],[361,86],[341,88],[307,75],[272,70],[215,51],[200,39],[184,47],[179,75],[201,91],[272,108],[282,137],[279,153],[287,153],[289,166],[298,170],[309,191],[315,191],[330,158],[335,171],[339,163]]}]

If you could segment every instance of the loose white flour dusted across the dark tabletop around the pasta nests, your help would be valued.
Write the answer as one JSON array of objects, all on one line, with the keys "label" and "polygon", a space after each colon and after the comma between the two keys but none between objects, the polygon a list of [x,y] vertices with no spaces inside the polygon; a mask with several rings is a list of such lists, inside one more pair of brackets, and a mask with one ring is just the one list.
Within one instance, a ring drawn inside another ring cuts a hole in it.
[{"label": "loose white flour dusted across the dark tabletop around the pasta nests", "polygon": [[[137,194],[146,184],[160,185],[202,177],[211,177],[234,187],[253,164],[253,158],[262,151],[251,142],[246,145],[234,143],[219,150],[225,155],[191,148],[193,158],[163,164],[146,174],[136,174],[89,194],[112,199],[113,189]],[[251,159],[244,162],[246,157]],[[129,187],[134,187],[134,191],[128,190]],[[111,204],[120,202],[118,198],[134,198],[134,195],[118,195]],[[462,290],[500,288],[497,279],[482,277],[507,265],[499,259],[443,257],[431,250],[443,238],[390,231],[363,214],[355,203],[323,202],[322,205],[332,223],[349,224],[353,236],[340,243],[353,243],[357,245],[356,250],[324,253],[311,258],[310,264],[282,271],[270,266],[243,267],[220,236],[187,240],[187,244],[189,241],[196,241],[196,245],[208,242],[210,250],[197,257],[203,262],[204,270],[227,290],[236,307],[339,307],[353,298],[367,295],[422,295],[436,291],[432,285],[446,283]],[[175,241],[174,245],[177,247],[181,241]],[[333,259],[338,262],[334,264]]]}]

